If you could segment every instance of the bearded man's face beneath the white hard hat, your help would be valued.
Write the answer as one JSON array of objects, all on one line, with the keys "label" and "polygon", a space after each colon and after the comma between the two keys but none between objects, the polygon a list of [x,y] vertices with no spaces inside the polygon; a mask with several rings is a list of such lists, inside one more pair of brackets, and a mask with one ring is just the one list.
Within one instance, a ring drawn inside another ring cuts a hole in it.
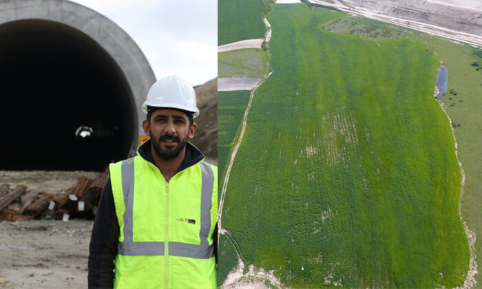
[{"label": "bearded man's face beneath the white hard hat", "polygon": [[189,126],[189,118],[181,111],[159,109],[154,111],[150,122],[144,120],[144,131],[151,137],[157,155],[172,160],[186,147],[187,139],[193,138],[196,124]]}]

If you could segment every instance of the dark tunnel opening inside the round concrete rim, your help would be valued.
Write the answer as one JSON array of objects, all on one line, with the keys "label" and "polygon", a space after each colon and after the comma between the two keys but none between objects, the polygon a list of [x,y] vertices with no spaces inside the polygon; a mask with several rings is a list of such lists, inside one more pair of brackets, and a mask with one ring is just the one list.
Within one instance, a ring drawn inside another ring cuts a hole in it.
[{"label": "dark tunnel opening inside the round concrete rim", "polygon": [[102,171],[127,157],[135,104],[96,41],[53,21],[0,25],[0,169]]}]

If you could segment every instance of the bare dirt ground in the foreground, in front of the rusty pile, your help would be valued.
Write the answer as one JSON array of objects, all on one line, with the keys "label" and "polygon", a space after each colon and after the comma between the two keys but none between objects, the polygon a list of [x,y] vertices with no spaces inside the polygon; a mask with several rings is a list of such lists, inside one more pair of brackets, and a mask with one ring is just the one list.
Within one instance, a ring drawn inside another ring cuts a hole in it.
[{"label": "bare dirt ground in the foreground, in front of the rusty pile", "polygon": [[0,288],[87,288],[92,221],[0,222]]}]

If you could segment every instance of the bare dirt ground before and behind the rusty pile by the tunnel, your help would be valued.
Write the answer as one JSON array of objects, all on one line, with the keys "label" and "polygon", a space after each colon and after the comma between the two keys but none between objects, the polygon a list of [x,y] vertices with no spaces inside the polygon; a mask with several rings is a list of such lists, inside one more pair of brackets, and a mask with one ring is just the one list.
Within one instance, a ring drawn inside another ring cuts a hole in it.
[{"label": "bare dirt ground before and behind the rusty pile by the tunnel", "polygon": [[[0,171],[0,184],[65,192],[85,171]],[[0,221],[0,289],[87,288],[92,220]]]}]

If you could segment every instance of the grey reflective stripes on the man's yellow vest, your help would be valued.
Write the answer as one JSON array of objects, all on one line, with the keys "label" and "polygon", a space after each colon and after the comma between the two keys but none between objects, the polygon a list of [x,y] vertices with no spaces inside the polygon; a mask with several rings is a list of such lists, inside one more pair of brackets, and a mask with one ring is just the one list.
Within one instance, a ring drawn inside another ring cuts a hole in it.
[{"label": "grey reflective stripes on the man's yellow vest", "polygon": [[[214,257],[214,246],[209,245],[207,237],[211,229],[211,197],[213,195],[214,173],[211,166],[205,162],[199,163],[202,173],[201,191],[201,229],[200,245],[180,242],[169,242],[169,255],[189,257],[196,259],[209,259]],[[164,242],[133,242],[132,215],[134,207],[134,158],[124,160],[121,167],[122,189],[124,195],[125,211],[124,242],[118,243],[117,252],[126,256],[162,256],[164,255]],[[166,228],[167,230],[167,228]]]}]

